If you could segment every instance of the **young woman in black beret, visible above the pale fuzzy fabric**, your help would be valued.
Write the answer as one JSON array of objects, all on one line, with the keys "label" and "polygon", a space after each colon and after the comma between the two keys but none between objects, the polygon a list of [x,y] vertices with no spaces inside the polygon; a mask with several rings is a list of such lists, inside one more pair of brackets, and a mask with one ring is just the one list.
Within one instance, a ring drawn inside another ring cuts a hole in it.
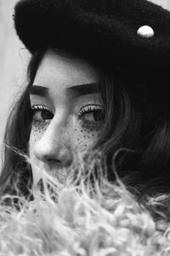
[{"label": "young woman in black beret, visible above the pale fuzzy fabric", "polygon": [[2,195],[28,196],[42,167],[65,183],[94,149],[109,181],[114,164],[139,195],[169,192],[169,20],[145,0],[17,3],[16,32],[32,57],[6,127]]}]

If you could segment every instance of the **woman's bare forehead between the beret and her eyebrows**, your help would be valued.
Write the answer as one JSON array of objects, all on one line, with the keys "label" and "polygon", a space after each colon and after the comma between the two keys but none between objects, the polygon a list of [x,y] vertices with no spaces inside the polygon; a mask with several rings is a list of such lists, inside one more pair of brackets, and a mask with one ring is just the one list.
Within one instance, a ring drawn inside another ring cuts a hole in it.
[{"label": "woman's bare forehead between the beret and her eyebrows", "polygon": [[33,84],[73,86],[96,83],[99,80],[97,70],[88,61],[59,55],[48,49],[37,69]]}]

